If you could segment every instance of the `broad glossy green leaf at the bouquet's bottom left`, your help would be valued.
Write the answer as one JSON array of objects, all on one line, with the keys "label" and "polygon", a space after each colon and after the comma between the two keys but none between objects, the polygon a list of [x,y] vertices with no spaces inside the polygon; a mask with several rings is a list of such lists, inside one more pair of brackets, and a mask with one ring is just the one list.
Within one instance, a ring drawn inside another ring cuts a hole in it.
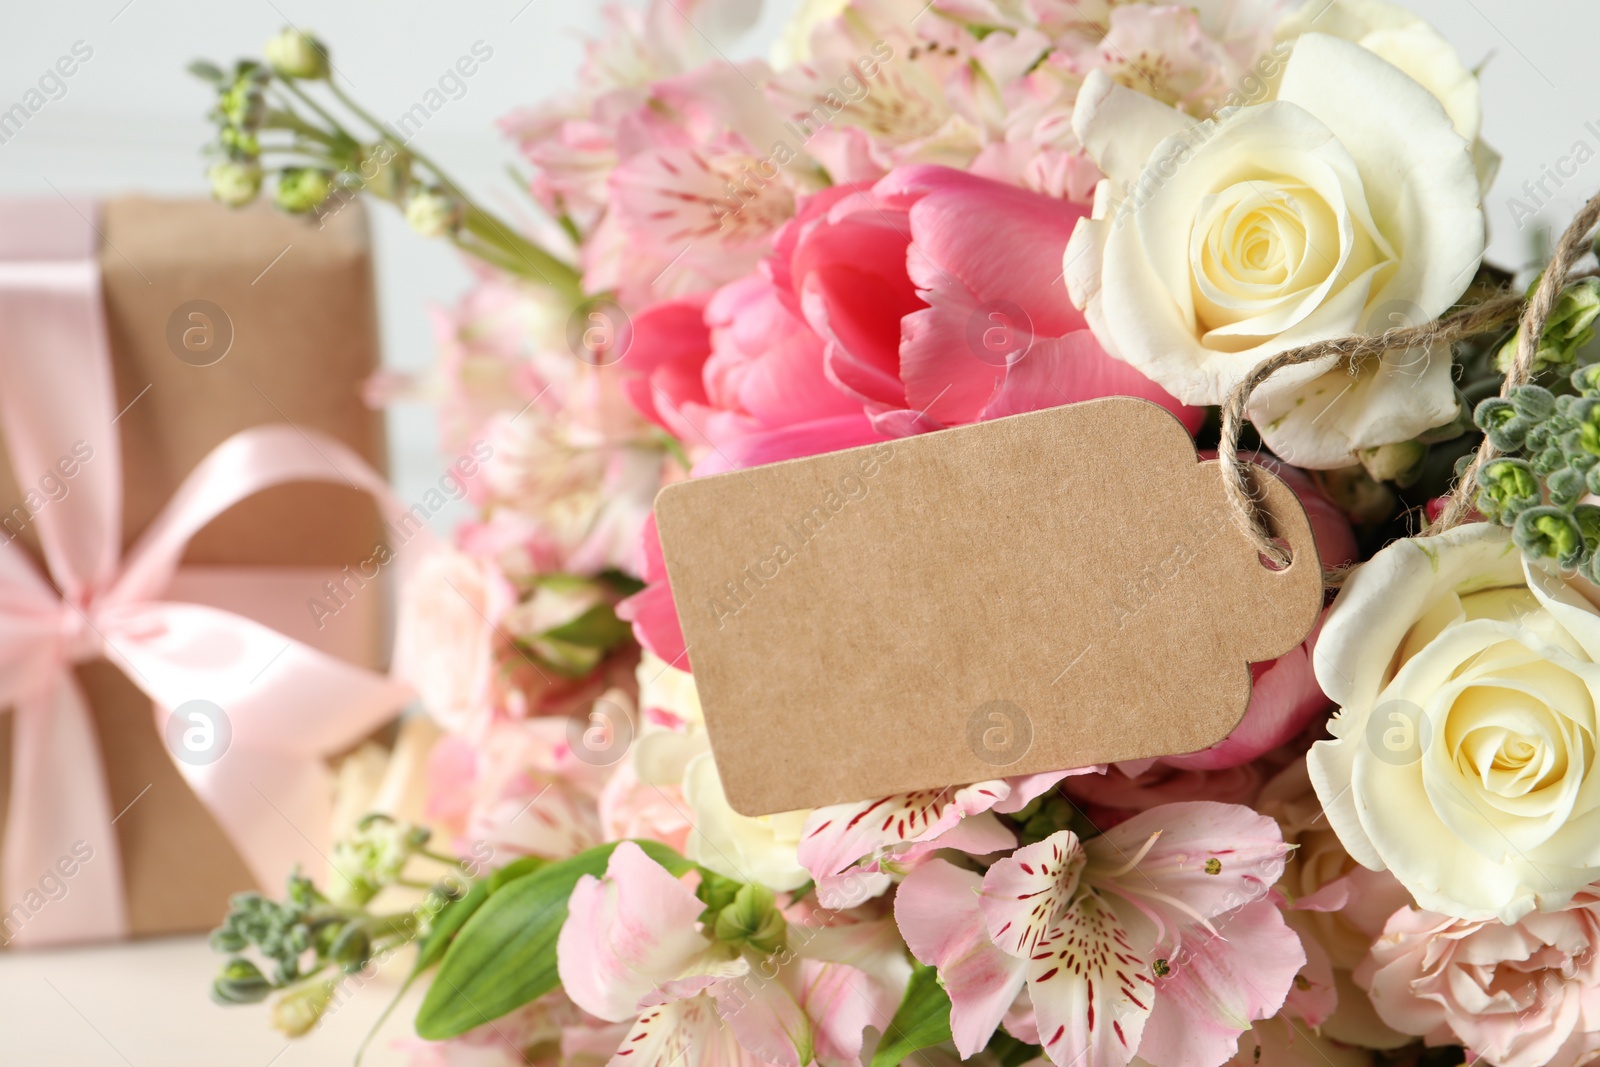
[{"label": "broad glossy green leaf at the bouquet's bottom left", "polygon": [[[674,875],[694,869],[666,845],[637,845]],[[614,848],[600,845],[546,864],[491,894],[450,942],[416,1013],[418,1035],[430,1041],[458,1037],[555,989],[555,939],[566,921],[566,899],[579,878],[605,873]]]}]

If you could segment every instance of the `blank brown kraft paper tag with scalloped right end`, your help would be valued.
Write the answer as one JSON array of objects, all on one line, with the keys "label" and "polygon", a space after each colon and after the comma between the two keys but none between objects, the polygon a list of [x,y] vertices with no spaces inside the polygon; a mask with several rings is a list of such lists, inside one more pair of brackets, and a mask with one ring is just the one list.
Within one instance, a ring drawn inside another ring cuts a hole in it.
[{"label": "blank brown kraft paper tag with scalloped right end", "polygon": [[667,573],[728,803],[770,814],[1195,752],[1301,643],[1322,566],[1256,467],[1112,397],[667,486]]}]

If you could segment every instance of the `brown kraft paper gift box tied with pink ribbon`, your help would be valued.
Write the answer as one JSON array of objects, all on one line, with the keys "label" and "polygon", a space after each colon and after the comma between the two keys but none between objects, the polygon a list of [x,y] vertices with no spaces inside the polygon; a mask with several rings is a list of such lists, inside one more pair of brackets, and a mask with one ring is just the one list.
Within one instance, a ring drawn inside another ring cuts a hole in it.
[{"label": "brown kraft paper gift box tied with pink ribbon", "polygon": [[[59,213],[64,202],[32,206]],[[323,226],[264,205],[232,211],[205,200],[117,198],[102,202],[98,218],[93,205],[66,206],[99,235],[120,413],[107,432],[122,443],[123,549],[202,458],[246,427],[290,424],[309,435],[322,432],[381,466],[382,418],[362,402],[362,384],[378,366],[378,323],[358,205]],[[64,475],[77,466],[62,461],[59,470],[18,477],[0,445],[0,552],[26,550],[37,565],[37,512],[75,488]],[[253,616],[286,637],[376,669],[386,640],[382,590],[350,595],[357,587],[342,581],[338,589],[347,590],[352,609],[322,613],[322,625],[309,601],[338,603],[323,582],[370,558],[382,537],[379,510],[363,493],[328,483],[280,485],[203,528],[163,598]],[[272,568],[266,571],[277,585],[272,603],[254,609],[230,603],[240,589],[259,589],[258,568]],[[126,931],[149,936],[214,926],[229,894],[253,888],[256,878],[174,766],[150,697],[104,659],[74,670],[91,705],[109,805],[120,813],[114,829]],[[13,720],[0,710],[0,827],[10,825],[11,814]],[[294,829],[302,830],[314,829]],[[56,867],[22,873],[29,885],[38,883],[38,893],[0,901],[0,941],[61,907],[58,897],[72,896],[77,861],[62,856]],[[58,931],[50,936],[56,939],[75,934]]]}]

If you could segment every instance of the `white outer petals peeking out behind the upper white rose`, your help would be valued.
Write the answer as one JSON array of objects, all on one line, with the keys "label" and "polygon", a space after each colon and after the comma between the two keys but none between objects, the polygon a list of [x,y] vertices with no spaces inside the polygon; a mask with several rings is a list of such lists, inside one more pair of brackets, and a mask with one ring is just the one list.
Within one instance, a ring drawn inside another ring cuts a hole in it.
[{"label": "white outer petals peeking out behind the upper white rose", "polygon": [[1389,0],[1312,0],[1285,16],[1275,37],[1293,42],[1310,32],[1355,42],[1432,93],[1445,106],[1456,133],[1472,146],[1478,187],[1488,192],[1499,170],[1499,155],[1478,139],[1483,130],[1478,77],[1461,62],[1461,54],[1438,30]]}]

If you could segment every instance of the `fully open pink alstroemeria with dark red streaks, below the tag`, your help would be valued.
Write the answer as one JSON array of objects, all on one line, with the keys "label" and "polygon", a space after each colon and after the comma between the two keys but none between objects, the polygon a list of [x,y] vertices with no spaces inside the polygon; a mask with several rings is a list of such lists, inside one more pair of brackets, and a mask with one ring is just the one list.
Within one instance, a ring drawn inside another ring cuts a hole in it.
[{"label": "fully open pink alstroemeria with dark red streaks, below the tag", "polygon": [[1165,805],[1088,841],[1061,830],[984,875],[931,859],[894,918],[939,969],[962,1056],[1026,989],[1059,1067],[1218,1067],[1306,963],[1269,897],[1286,853],[1248,808]]}]

